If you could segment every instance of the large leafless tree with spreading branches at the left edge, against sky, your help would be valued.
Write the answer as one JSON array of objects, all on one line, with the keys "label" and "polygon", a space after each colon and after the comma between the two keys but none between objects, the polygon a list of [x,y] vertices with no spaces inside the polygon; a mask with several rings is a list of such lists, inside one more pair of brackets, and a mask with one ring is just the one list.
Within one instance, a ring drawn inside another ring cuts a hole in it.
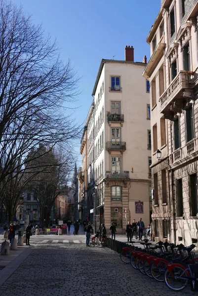
[{"label": "large leafless tree with spreading branches at the left edge, against sky", "polygon": [[[56,43],[44,37],[41,26],[33,26],[21,8],[1,0],[0,198],[7,210],[16,210],[30,181],[24,182],[28,162],[39,157],[30,152],[39,143],[68,147],[78,137],[79,127],[65,110],[78,94],[77,82],[70,61],[62,63]],[[15,194],[5,196],[8,191]]]}]

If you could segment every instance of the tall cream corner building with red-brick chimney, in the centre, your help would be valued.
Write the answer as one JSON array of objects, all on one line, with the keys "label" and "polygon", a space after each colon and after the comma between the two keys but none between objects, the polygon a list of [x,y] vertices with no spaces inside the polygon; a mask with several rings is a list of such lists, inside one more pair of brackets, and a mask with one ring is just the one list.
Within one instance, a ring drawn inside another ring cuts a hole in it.
[{"label": "tall cream corner building with red-brick chimney, in the centre", "polygon": [[[125,48],[125,60],[100,63],[86,119],[87,187],[82,195],[87,216],[97,227],[112,222],[124,233],[126,222],[141,217],[147,227],[151,208],[151,129],[149,81],[146,66],[134,62],[134,49]],[[81,141],[85,155],[86,141]],[[82,157],[83,158],[83,157]],[[83,163],[84,160],[83,160]]]}]

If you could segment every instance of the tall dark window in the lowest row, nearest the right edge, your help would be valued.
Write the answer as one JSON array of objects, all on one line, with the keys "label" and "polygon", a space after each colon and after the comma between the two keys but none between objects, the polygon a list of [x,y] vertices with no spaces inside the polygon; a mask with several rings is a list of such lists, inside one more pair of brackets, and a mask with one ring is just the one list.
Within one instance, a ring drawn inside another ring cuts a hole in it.
[{"label": "tall dark window in the lowest row, nearest the right edge", "polygon": [[190,207],[191,216],[198,214],[198,177],[197,174],[190,175]]}]

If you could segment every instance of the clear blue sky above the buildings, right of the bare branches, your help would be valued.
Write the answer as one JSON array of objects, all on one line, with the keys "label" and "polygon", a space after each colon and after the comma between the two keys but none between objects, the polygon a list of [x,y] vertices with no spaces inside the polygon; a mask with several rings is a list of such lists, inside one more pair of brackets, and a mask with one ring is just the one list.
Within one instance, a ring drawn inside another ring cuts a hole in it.
[{"label": "clear blue sky above the buildings, right of the bare branches", "polygon": [[[160,9],[160,0],[12,0],[42,23],[57,39],[63,61],[71,59],[81,92],[73,116],[83,124],[101,59],[124,60],[125,45],[133,45],[134,60],[149,59],[146,37]],[[79,144],[80,146],[80,144]],[[78,150],[79,151],[79,146]],[[79,158],[80,159],[80,158]]]}]

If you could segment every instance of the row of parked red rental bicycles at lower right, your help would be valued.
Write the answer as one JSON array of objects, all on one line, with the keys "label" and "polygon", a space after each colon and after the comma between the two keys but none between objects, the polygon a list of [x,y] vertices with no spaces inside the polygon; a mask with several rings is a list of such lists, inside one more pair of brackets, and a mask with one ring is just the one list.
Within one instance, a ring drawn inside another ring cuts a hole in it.
[{"label": "row of parked red rental bicycles at lower right", "polygon": [[191,286],[198,291],[198,258],[192,250],[196,245],[185,247],[180,244],[158,242],[152,245],[148,240],[140,242],[144,249],[134,246],[122,248],[120,259],[130,263],[137,271],[158,282],[164,282],[172,291],[182,291]]}]

